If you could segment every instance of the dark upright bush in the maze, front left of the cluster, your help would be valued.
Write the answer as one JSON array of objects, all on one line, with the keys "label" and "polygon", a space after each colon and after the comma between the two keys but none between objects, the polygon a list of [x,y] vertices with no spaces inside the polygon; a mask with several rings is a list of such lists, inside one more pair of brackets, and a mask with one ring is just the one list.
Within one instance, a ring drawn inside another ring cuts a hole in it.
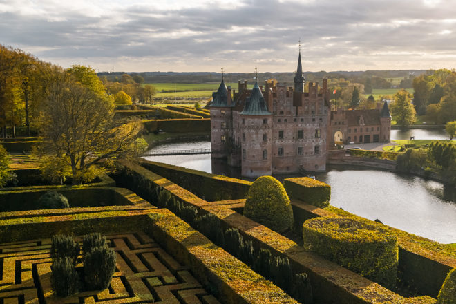
[{"label": "dark upright bush in the maze, front left of the cluster", "polygon": [[79,290],[79,275],[73,265],[73,258],[57,258],[50,266],[50,285],[57,296],[65,297]]}]

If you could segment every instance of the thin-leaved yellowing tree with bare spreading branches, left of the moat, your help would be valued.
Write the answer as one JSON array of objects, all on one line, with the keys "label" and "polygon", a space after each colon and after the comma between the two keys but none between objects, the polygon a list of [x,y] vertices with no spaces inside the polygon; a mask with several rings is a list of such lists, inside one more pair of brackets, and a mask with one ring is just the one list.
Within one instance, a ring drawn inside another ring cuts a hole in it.
[{"label": "thin-leaved yellowing tree with bare spreading branches, left of the moat", "polygon": [[99,160],[127,155],[140,131],[139,123],[115,126],[112,100],[93,86],[95,71],[77,70],[84,70],[92,80],[77,79],[79,73],[73,75],[73,70],[58,66],[43,69],[44,102],[39,117],[43,142],[36,149],[42,162],[54,165],[57,173],[69,171],[73,184],[95,178]]}]

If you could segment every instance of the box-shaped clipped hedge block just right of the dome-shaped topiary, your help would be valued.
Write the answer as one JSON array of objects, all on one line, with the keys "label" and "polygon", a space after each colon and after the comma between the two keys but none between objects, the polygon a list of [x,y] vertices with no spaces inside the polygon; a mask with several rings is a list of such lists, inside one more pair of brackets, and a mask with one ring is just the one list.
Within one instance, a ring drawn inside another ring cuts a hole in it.
[{"label": "box-shaped clipped hedge block just right of the dome-shaped topiary", "polygon": [[331,186],[312,178],[285,178],[284,186],[290,198],[324,208],[330,205]]}]

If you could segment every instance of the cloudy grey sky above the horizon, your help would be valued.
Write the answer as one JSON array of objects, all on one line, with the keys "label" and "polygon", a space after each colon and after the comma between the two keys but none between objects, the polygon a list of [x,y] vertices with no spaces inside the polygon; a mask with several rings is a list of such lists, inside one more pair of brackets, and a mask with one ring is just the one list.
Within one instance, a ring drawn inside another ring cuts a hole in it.
[{"label": "cloudy grey sky above the horizon", "polygon": [[64,67],[456,68],[456,0],[0,0],[0,44]]}]

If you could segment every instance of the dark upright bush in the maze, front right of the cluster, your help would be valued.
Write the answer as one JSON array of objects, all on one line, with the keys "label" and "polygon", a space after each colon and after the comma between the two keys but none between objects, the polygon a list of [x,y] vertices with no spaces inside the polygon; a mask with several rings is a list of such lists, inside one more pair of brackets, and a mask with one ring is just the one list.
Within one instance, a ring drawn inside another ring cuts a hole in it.
[{"label": "dark upright bush in the maze, front right of the cluster", "polygon": [[106,289],[115,272],[115,252],[108,247],[95,247],[84,255],[84,278],[91,289]]}]

